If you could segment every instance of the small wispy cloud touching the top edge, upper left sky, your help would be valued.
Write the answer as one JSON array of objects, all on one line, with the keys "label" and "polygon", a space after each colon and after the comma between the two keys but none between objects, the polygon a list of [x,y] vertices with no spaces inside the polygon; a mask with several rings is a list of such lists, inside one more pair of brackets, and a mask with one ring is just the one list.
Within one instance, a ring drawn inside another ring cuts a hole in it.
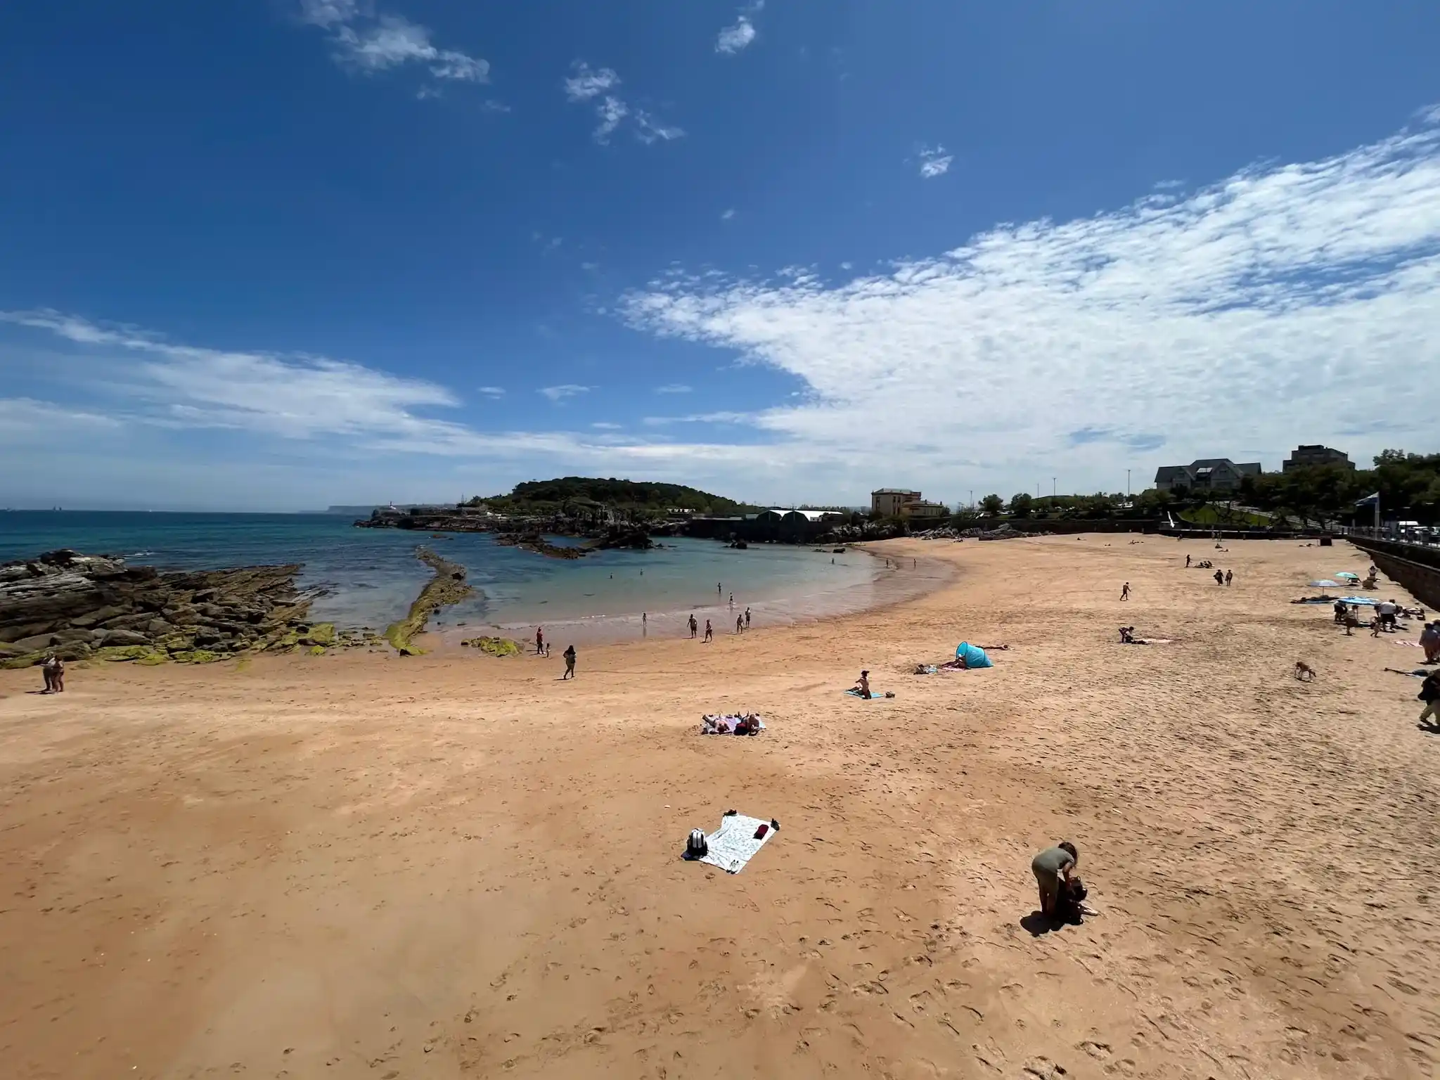
[{"label": "small wispy cloud touching the top edge, upper left sky", "polygon": [[[436,79],[488,82],[490,63],[456,49],[431,42],[431,30],[397,14],[374,14],[356,0],[300,0],[300,19],[330,30],[338,63],[353,71],[376,73],[408,63],[423,63]],[[439,94],[422,88],[418,98]]]}]

